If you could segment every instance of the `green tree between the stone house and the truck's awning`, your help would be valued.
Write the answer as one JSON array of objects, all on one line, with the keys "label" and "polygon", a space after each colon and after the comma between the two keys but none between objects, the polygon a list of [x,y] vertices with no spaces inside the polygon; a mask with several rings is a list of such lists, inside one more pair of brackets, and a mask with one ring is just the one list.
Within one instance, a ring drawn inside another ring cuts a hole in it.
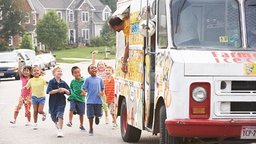
[{"label": "green tree between the stone house and the truck's awning", "polygon": [[112,47],[115,46],[116,41],[115,41],[115,35],[116,32],[112,31],[109,27],[108,27],[108,21],[106,21],[103,26],[102,26],[102,31],[101,31],[101,37],[104,41],[104,44],[108,47]]}]

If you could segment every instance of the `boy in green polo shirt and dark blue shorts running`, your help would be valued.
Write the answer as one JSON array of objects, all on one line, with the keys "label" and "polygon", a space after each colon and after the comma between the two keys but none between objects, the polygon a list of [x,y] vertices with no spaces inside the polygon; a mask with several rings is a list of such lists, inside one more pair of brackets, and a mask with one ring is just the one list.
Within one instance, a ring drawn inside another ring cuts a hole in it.
[{"label": "boy in green polo shirt and dark blue shorts running", "polygon": [[74,66],[71,69],[72,75],[75,77],[70,83],[71,95],[68,100],[70,102],[69,122],[67,126],[72,127],[73,114],[78,114],[80,119],[80,131],[86,131],[83,126],[85,111],[85,95],[82,93],[81,86],[84,84],[84,78],[81,77],[81,70]]}]

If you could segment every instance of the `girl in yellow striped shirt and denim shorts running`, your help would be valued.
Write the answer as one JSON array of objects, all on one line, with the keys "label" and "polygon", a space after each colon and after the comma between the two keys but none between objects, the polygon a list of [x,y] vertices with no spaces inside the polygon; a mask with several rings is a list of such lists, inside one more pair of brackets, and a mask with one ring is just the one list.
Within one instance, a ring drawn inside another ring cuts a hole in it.
[{"label": "girl in yellow striped shirt and denim shorts running", "polygon": [[31,69],[31,73],[33,78],[30,78],[26,84],[26,86],[22,87],[22,89],[32,88],[31,100],[34,108],[34,127],[33,129],[37,129],[37,115],[38,113],[43,115],[42,121],[46,119],[46,111],[44,111],[44,103],[45,103],[45,92],[44,86],[48,85],[48,82],[41,75],[45,75],[43,71],[40,70],[38,66],[34,66]]}]

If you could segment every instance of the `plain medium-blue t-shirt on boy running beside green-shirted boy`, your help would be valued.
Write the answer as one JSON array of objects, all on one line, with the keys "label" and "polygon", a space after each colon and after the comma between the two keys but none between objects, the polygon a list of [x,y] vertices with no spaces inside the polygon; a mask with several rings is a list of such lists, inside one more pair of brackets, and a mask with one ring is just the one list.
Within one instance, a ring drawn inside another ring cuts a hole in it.
[{"label": "plain medium-blue t-shirt on boy running beside green-shirted boy", "polygon": [[82,85],[87,91],[86,104],[103,104],[102,97],[98,96],[101,89],[104,89],[104,82],[101,77],[88,77]]}]

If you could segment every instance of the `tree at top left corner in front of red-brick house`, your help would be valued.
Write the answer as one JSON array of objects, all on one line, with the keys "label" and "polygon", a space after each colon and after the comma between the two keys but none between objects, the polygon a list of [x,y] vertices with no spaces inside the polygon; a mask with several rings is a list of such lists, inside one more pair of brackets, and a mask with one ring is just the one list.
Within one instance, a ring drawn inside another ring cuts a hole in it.
[{"label": "tree at top left corner in front of red-brick house", "polygon": [[[11,36],[17,34],[23,35],[25,29],[20,25],[25,22],[25,10],[21,6],[21,1],[0,0],[0,38],[4,39],[3,43],[7,44]],[[14,38],[13,38],[14,44]],[[13,45],[14,47],[14,45]]]}]

